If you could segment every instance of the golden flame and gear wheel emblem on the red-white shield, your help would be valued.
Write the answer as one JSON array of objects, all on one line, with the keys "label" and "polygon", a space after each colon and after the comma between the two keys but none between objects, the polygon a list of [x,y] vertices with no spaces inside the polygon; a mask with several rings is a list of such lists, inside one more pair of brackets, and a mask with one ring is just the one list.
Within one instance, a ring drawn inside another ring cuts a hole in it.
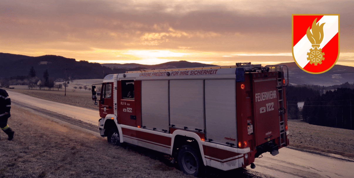
[{"label": "golden flame and gear wheel emblem on the red-white shield", "polygon": [[325,23],[316,24],[317,18],[313,21],[312,23],[312,33],[310,31],[310,27],[306,31],[306,36],[309,39],[309,41],[312,43],[312,49],[310,49],[310,52],[307,53],[308,58],[307,60],[310,61],[310,64],[322,64],[322,60],[325,60],[325,53],[322,53],[322,49],[320,48],[320,44],[323,40],[323,26]]}]

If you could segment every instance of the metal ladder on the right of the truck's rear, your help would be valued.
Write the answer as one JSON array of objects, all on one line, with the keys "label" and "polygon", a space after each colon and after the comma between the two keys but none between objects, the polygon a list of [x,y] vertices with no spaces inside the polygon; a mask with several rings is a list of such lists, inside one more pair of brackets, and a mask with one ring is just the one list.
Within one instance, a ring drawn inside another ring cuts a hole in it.
[{"label": "metal ladder on the right of the truck's rear", "polygon": [[[284,87],[289,85],[289,69],[286,65],[268,65],[265,67],[269,67],[269,72],[278,72],[277,77],[277,88],[278,88],[278,102],[279,102],[279,129],[280,129],[280,137],[279,137],[279,147],[282,147],[286,144],[286,126],[285,126],[285,108],[284,108]],[[287,81],[285,81],[284,70],[286,68],[286,76]]]}]

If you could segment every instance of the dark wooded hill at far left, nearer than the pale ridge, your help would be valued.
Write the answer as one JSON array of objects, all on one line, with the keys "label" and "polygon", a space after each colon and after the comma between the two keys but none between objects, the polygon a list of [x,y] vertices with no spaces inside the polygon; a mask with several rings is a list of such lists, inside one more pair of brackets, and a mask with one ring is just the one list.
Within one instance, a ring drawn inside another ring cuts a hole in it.
[{"label": "dark wooded hill at far left, nearer than the pale ridge", "polygon": [[87,61],[75,61],[75,59],[64,58],[56,55],[44,55],[30,57],[0,53],[0,77],[27,76],[31,66],[36,71],[36,76],[43,77],[45,70],[48,70],[50,78],[64,78],[65,69],[67,77],[74,79],[103,78],[104,75],[113,73],[113,70],[101,66],[99,63]]}]

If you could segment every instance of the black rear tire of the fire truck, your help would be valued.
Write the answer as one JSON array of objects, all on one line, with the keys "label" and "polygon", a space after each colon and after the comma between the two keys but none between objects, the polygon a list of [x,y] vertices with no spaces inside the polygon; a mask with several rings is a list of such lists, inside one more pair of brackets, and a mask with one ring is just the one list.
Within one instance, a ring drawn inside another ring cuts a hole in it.
[{"label": "black rear tire of the fire truck", "polygon": [[178,166],[185,174],[195,177],[202,176],[205,173],[205,166],[200,154],[189,145],[180,148]]}]

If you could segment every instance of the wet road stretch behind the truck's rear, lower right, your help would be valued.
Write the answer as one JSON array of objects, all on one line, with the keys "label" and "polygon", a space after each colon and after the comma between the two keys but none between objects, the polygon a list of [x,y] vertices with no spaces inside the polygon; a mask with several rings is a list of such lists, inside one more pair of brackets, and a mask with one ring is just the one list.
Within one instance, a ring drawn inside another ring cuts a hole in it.
[{"label": "wet road stretch behind the truck's rear, lower right", "polygon": [[279,178],[354,177],[354,160],[322,154],[324,155],[281,148],[276,156],[264,153],[263,158],[256,159],[254,171]]}]

